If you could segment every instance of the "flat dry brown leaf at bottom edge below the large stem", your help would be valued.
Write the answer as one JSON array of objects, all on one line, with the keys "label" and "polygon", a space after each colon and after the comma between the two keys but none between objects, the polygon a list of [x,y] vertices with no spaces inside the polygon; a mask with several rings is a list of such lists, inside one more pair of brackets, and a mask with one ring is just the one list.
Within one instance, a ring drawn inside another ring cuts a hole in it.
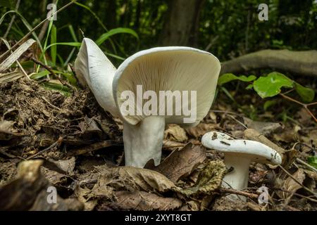
[{"label": "flat dry brown leaf at bottom edge below the large stem", "polygon": [[175,210],[182,206],[178,198],[164,198],[154,193],[144,191],[117,191],[115,203],[107,204],[108,207],[121,210]]}]

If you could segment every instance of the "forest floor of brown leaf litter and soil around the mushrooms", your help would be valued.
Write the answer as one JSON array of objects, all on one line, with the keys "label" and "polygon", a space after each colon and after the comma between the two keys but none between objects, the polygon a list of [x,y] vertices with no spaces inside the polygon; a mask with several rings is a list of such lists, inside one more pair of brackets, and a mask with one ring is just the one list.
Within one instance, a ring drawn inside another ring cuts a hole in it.
[{"label": "forest floor of brown leaf litter and soil around the mushrooms", "polygon": [[[0,209],[317,210],[317,172],[306,160],[316,155],[316,123],[302,108],[292,120],[274,122],[289,103],[256,111],[259,97],[245,90],[236,96],[230,103],[220,93],[197,127],[166,126],[161,165],[137,169],[123,167],[122,122],[89,91],[63,96],[26,77],[0,84]],[[201,146],[207,131],[261,135],[285,152],[282,165],[252,163],[249,188],[240,191],[247,201],[232,201],[232,190],[220,188],[223,154]],[[47,198],[51,186],[56,204]],[[261,186],[268,203],[258,201]]]}]

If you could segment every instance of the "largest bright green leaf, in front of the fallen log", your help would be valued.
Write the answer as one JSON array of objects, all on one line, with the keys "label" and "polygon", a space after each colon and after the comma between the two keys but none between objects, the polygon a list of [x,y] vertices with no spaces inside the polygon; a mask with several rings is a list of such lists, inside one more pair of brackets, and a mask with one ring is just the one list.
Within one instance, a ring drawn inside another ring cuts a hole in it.
[{"label": "largest bright green leaf, in front of the fallen log", "polygon": [[276,96],[282,87],[292,88],[294,81],[279,72],[271,72],[266,77],[259,77],[253,83],[254,90],[261,98]]}]

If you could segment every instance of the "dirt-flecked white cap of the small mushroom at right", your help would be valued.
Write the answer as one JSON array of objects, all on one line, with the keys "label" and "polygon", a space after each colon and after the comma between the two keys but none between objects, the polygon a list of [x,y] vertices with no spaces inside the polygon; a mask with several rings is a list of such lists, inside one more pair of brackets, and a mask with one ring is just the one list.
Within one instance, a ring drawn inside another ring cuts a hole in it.
[{"label": "dirt-flecked white cap of the small mushroom at right", "polygon": [[255,162],[272,163],[280,165],[282,157],[280,154],[259,141],[237,140],[228,134],[217,131],[211,131],[201,138],[201,144],[206,148],[218,150],[231,155],[243,155],[245,158],[251,158]]}]

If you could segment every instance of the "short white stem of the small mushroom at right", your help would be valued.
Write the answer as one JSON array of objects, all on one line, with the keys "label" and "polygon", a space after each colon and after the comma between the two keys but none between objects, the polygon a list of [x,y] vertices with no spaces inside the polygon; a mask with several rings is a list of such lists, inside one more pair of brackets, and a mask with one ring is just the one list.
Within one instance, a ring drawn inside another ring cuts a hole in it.
[{"label": "short white stem of the small mushroom at right", "polygon": [[[235,154],[225,153],[225,166],[230,169],[233,168],[232,172],[228,172],[223,178],[223,186],[225,188],[232,188],[237,191],[242,191],[248,186],[249,180],[249,165],[251,159]],[[228,198],[235,199],[237,195],[228,195]],[[245,200],[245,197],[240,197]]]}]

